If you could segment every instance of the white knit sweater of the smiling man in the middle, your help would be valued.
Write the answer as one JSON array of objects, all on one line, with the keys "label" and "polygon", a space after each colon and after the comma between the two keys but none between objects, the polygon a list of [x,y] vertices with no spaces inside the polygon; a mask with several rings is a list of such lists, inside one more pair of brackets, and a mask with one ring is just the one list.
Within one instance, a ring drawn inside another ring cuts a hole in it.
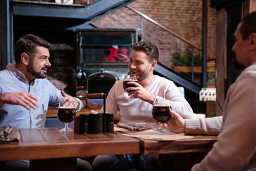
[{"label": "white knit sweater of the smiling man in the middle", "polygon": [[[156,98],[170,100],[173,110],[183,118],[193,118],[193,110],[187,100],[183,98],[177,86],[166,78],[155,76],[155,79],[145,87],[150,93],[157,95]],[[153,105],[140,100],[140,98],[130,98],[123,90],[123,80],[116,81],[106,98],[106,113],[116,113],[119,110],[121,123],[145,123],[155,125],[152,116]]]}]

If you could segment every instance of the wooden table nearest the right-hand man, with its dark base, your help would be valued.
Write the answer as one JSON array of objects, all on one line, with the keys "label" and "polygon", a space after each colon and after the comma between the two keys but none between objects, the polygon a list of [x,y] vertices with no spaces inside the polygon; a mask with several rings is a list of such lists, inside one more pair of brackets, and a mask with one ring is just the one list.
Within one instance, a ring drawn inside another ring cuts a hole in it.
[{"label": "wooden table nearest the right-hand man, with its dark base", "polygon": [[175,141],[140,140],[140,152],[158,154],[165,170],[190,170],[201,162],[213,148],[216,136],[195,136],[193,139]]}]

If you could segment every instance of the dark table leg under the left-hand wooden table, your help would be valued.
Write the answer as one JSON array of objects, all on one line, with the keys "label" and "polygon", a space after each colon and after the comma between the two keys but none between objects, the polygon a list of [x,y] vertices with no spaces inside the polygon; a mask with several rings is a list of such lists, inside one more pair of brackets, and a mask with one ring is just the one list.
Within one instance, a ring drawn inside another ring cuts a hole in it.
[{"label": "dark table leg under the left-hand wooden table", "polygon": [[76,171],[76,157],[30,160],[31,171]]}]

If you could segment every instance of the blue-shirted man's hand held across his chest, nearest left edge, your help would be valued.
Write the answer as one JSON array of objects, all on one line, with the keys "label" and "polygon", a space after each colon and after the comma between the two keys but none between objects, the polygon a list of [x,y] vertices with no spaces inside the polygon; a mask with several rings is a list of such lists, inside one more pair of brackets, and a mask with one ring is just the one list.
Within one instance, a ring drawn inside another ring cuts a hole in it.
[{"label": "blue-shirted man's hand held across his chest, nearest left edge", "polygon": [[34,95],[24,91],[0,95],[0,106],[8,103],[11,105],[22,105],[24,108],[31,110],[31,108],[36,109],[39,107],[36,101],[38,101],[38,99]]}]

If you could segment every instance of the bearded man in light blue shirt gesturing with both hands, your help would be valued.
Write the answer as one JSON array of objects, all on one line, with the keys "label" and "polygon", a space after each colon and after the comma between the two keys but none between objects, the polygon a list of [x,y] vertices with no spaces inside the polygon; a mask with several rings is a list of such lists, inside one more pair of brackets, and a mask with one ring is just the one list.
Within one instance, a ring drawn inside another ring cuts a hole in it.
[{"label": "bearded man in light blue shirt gesturing with both hands", "polygon": [[[48,105],[57,108],[61,100],[73,101],[76,110],[83,108],[81,100],[58,90],[45,79],[51,66],[49,48],[51,43],[32,34],[16,41],[16,63],[9,63],[4,71],[0,71],[0,127],[43,128]],[[6,162],[6,168],[13,166],[15,170],[17,167],[19,170],[29,169],[20,161]],[[92,170],[84,160],[78,162],[78,170],[80,167]]]}]

